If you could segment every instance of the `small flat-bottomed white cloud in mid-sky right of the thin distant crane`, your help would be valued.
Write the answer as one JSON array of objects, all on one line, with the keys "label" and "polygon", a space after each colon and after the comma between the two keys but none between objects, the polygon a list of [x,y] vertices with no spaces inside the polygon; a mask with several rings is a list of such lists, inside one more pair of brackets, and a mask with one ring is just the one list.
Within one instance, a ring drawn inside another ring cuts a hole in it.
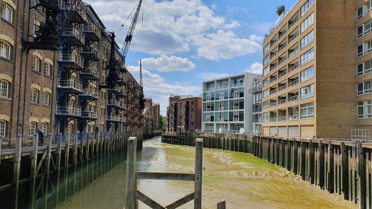
[{"label": "small flat-bottomed white cloud in mid-sky right of the thin distant crane", "polygon": [[169,71],[184,71],[188,72],[195,68],[195,64],[187,58],[180,58],[176,56],[161,55],[158,58],[145,58],[142,59],[142,67],[149,69],[156,69],[160,72]]}]

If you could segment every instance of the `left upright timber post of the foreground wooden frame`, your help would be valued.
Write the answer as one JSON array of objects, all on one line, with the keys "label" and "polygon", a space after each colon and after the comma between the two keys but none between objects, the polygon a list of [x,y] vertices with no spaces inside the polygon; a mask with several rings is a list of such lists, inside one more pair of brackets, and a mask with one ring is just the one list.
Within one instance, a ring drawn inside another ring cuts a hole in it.
[{"label": "left upright timber post of the foreground wooden frame", "polygon": [[135,172],[136,172],[136,137],[129,137],[128,152],[126,157],[126,186],[125,186],[125,208],[134,208],[134,186],[135,186]]}]

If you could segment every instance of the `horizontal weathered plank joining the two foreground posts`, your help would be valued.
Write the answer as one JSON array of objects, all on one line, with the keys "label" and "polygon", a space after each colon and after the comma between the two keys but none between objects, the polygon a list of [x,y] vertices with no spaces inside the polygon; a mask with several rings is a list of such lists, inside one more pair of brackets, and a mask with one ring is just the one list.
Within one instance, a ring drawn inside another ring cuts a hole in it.
[{"label": "horizontal weathered plank joining the two foreground posts", "polygon": [[157,179],[157,180],[180,180],[194,181],[193,173],[160,173],[160,172],[136,172],[137,179]]}]

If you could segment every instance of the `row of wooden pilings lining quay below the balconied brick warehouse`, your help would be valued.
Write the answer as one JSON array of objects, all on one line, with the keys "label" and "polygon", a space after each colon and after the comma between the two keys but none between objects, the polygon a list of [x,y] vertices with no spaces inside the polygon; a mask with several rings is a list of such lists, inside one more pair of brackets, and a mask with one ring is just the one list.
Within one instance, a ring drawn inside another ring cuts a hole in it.
[{"label": "row of wooden pilings lining quay below the balconied brick warehouse", "polygon": [[138,139],[137,151],[142,149],[142,131],[59,134],[55,144],[49,134],[46,145],[33,143],[31,151],[22,148],[18,135],[14,153],[1,156],[1,208],[57,206],[126,160],[130,136]]}]

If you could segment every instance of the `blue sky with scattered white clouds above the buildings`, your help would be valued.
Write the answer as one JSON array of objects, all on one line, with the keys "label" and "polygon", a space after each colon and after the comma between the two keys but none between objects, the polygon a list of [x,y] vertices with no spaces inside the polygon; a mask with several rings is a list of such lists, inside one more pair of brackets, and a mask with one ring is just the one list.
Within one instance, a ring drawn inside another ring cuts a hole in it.
[{"label": "blue sky with scattered white clouds above the buildings", "polygon": [[[139,0],[87,1],[122,46]],[[170,94],[202,93],[203,80],[262,74],[263,35],[276,7],[295,0],[142,0],[126,64],[166,115]],[[133,12],[134,13],[134,12]],[[143,13],[143,18],[142,18]],[[129,17],[128,21],[126,19]],[[123,27],[121,25],[124,24]]]}]

